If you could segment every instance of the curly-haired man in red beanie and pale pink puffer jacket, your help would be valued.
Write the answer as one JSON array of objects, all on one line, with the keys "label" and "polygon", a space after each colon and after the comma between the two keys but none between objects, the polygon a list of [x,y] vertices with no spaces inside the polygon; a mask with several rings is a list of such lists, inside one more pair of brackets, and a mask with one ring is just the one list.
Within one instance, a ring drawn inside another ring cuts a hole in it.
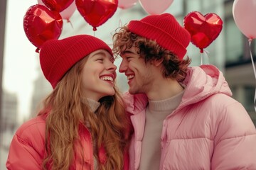
[{"label": "curly-haired man in red beanie and pale pink puffer jacket", "polygon": [[130,21],[113,40],[129,84],[130,169],[256,169],[255,125],[222,72],[188,67],[190,35],[174,16]]}]

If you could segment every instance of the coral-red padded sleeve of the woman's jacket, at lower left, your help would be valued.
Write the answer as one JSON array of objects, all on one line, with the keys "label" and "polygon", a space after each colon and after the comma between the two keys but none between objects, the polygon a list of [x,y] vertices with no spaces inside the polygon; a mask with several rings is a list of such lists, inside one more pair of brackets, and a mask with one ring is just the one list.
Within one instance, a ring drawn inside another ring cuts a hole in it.
[{"label": "coral-red padded sleeve of the woman's jacket, at lower left", "polygon": [[9,148],[6,168],[9,170],[42,169],[44,155],[44,123],[25,123],[14,135]]}]

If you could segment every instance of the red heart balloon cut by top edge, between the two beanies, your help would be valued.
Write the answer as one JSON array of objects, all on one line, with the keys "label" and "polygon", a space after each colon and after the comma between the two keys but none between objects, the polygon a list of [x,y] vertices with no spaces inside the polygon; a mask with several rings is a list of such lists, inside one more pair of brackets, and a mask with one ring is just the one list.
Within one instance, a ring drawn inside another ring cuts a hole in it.
[{"label": "red heart balloon cut by top edge, between the two beanies", "polygon": [[75,0],[75,4],[85,21],[97,30],[117,11],[118,0]]}]

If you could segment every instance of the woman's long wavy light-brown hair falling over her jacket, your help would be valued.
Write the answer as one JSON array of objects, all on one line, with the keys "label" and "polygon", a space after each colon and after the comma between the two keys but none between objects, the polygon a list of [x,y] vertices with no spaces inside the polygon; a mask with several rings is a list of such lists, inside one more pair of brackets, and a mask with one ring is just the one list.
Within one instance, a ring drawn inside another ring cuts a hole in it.
[{"label": "woman's long wavy light-brown hair falling over her jacket", "polygon": [[[85,57],[86,58],[86,57]],[[95,113],[90,111],[82,96],[82,67],[85,58],[75,64],[60,80],[52,93],[43,101],[43,109],[38,115],[46,116],[46,152],[43,169],[68,170],[73,164],[74,155],[82,154],[82,145],[78,134],[80,123],[90,123],[90,134],[95,141],[95,153],[98,169],[122,169],[124,152],[131,137],[131,127],[125,114],[122,98],[114,87],[114,96],[100,99],[100,107]],[[74,144],[79,143],[81,153],[75,153]],[[101,146],[106,151],[106,162],[98,160]],[[83,161],[83,164],[85,162]]]}]

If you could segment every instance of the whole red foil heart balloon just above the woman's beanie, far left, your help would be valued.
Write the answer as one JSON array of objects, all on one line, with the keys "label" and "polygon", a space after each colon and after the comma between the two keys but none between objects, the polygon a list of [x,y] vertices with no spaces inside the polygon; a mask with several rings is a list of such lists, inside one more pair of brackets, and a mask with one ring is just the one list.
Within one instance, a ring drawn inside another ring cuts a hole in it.
[{"label": "whole red foil heart balloon just above the woman's beanie, far left", "polygon": [[46,40],[60,37],[63,19],[60,13],[36,4],[28,8],[23,18],[23,28],[28,40],[40,48]]}]

